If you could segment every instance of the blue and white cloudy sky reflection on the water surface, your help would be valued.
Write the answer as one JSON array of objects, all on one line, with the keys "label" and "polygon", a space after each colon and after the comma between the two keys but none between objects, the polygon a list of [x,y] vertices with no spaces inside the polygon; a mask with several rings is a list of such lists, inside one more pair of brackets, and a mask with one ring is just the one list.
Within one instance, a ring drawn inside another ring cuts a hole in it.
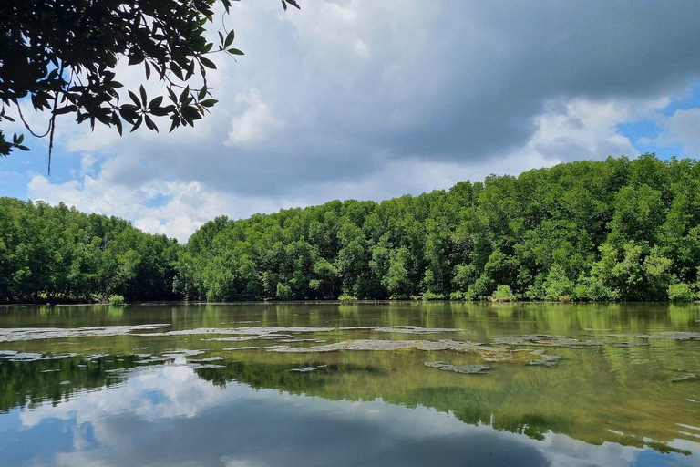
[{"label": "blue and white cloudy sky reflection on the water surface", "polygon": [[[187,366],[138,368],[121,385],[0,419],[8,465],[695,465],[616,443],[542,441],[452,414],[330,401],[233,383]],[[13,433],[6,436],[7,433]]]}]

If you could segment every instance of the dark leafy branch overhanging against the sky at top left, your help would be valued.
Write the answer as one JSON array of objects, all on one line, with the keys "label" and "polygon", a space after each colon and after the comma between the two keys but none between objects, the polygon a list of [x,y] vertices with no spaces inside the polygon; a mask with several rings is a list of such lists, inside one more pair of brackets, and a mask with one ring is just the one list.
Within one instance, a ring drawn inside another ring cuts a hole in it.
[{"label": "dark leafy branch overhanging against the sky at top left", "polygon": [[[217,43],[205,36],[214,23],[214,8],[231,12],[237,0],[5,0],[0,17],[0,124],[10,120],[5,108],[15,107],[26,129],[49,137],[56,117],[73,114],[78,123],[96,122],[123,130],[144,125],[158,131],[156,120],[170,119],[170,131],[193,126],[217,100],[207,84],[216,69],[211,55],[241,56],[233,47],[233,30],[221,26]],[[282,0],[299,8],[295,0]],[[223,25],[223,22],[221,22]],[[120,57],[141,66],[145,79],[164,84],[162,95],[146,88],[120,93],[116,67]],[[194,84],[196,83],[196,84]],[[29,127],[19,104],[47,111],[46,131]],[[5,140],[0,129],[0,156],[27,150],[23,137]]]}]

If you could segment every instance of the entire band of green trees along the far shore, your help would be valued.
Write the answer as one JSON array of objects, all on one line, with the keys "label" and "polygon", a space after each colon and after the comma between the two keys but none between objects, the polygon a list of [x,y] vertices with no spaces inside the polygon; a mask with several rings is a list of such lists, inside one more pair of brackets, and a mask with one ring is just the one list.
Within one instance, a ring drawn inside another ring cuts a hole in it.
[{"label": "entire band of green trees along the far shore", "polygon": [[[59,218],[72,227],[51,227]],[[115,218],[8,199],[0,227],[5,300],[20,290],[118,290],[130,300],[690,301],[700,289],[700,165],[654,154],[489,176],[379,203],[222,216],[185,245]],[[62,248],[69,253],[57,254]],[[53,262],[36,255],[44,252]],[[73,275],[46,271],[54,269]]]}]

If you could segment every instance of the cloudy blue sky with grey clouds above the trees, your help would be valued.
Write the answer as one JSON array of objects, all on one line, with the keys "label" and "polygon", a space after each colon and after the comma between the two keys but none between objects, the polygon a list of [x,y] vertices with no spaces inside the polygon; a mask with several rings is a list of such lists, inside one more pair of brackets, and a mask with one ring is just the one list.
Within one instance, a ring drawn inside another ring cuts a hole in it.
[{"label": "cloudy blue sky with grey clouds above the trees", "polygon": [[[194,129],[120,138],[63,116],[51,175],[46,139],[27,138],[31,151],[0,160],[0,195],[185,242],[218,215],[381,201],[609,155],[700,154],[700,2],[300,5],[233,5],[224,21],[245,55],[212,57],[219,103]],[[149,94],[162,91],[152,79]],[[136,88],[143,69],[120,64],[118,80]],[[46,129],[46,114],[26,117]]]}]

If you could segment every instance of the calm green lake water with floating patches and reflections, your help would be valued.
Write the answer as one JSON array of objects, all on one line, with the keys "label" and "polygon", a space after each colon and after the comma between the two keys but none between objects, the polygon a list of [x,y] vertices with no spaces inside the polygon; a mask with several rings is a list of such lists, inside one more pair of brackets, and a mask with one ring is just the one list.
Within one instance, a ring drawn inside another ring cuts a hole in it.
[{"label": "calm green lake water with floating patches and reflections", "polygon": [[0,307],[0,465],[700,465],[700,306]]}]

